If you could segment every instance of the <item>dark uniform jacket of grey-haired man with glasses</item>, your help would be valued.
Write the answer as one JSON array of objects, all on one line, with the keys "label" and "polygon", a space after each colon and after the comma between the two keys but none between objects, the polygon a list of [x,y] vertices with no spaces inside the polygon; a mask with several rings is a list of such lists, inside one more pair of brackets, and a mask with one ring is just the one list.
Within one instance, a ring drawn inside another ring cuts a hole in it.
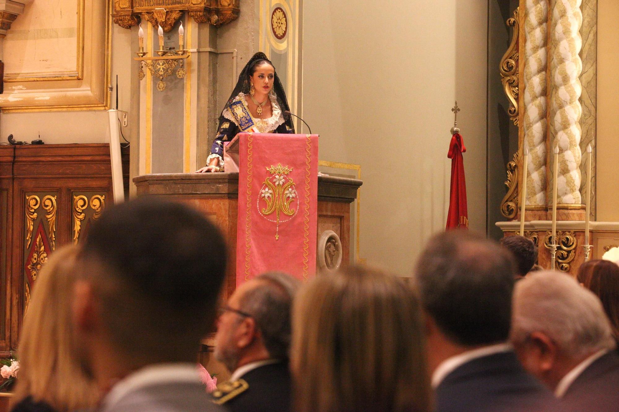
[{"label": "dark uniform jacket of grey-haired man with glasses", "polygon": [[223,404],[231,412],[288,412],[292,383],[288,363],[257,367],[240,379],[249,387]]}]

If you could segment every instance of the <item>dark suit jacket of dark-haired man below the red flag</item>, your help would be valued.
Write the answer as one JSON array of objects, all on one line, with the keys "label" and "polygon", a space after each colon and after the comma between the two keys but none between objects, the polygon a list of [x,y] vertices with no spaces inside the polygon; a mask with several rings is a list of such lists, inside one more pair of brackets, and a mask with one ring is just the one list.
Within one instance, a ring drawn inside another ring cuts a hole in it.
[{"label": "dark suit jacket of dark-haired man below the red flag", "polygon": [[457,367],[435,390],[437,412],[543,411],[554,397],[529,376],[513,352],[473,359]]}]

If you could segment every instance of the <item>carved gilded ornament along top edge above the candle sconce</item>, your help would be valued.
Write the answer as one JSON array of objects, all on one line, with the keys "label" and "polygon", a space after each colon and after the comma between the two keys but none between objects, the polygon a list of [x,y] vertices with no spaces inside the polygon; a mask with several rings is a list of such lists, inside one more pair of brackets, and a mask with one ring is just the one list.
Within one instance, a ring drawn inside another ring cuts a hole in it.
[{"label": "carved gilded ornament along top edge above the candle sconce", "polygon": [[120,27],[131,28],[140,20],[154,27],[161,25],[170,32],[184,12],[196,23],[209,23],[215,27],[238,19],[240,0],[114,0],[112,17]]}]

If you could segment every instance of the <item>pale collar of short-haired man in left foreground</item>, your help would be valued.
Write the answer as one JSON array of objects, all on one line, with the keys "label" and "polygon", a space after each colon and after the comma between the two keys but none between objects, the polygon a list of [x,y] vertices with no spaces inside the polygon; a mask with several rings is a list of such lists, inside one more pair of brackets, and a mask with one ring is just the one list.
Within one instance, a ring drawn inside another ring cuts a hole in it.
[{"label": "pale collar of short-haired man in left foreground", "polygon": [[159,363],[144,366],[119,380],[103,399],[103,405],[110,406],[124,398],[128,393],[159,383],[200,384],[200,376],[195,363]]}]

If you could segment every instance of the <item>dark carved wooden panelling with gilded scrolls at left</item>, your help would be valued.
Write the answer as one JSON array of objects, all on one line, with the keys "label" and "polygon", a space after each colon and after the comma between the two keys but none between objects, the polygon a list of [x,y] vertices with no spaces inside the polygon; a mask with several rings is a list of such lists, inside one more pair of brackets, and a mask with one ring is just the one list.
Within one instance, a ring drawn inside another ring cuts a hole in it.
[{"label": "dark carved wooden panelling with gilded scrolls at left", "polygon": [[108,145],[0,147],[0,358],[17,347],[46,260],[74,242],[74,195],[87,199],[80,239],[111,199]]}]

